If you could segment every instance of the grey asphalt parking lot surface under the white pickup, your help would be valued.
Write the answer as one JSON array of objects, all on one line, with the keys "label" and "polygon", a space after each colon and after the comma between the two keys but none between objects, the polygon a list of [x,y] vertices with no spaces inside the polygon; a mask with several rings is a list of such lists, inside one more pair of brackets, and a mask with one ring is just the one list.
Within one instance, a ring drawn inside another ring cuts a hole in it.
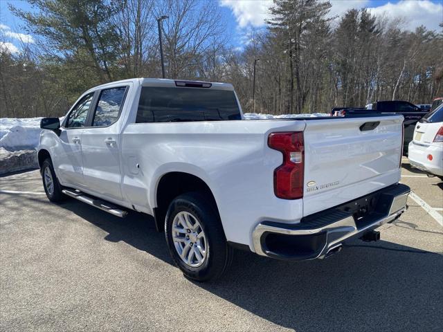
[{"label": "grey asphalt parking lot surface under the white pickup", "polygon": [[443,183],[403,166],[419,199],[381,241],[302,263],[236,252],[211,284],[181,275],[149,217],[49,203],[37,171],[0,178],[0,331],[442,331]]}]

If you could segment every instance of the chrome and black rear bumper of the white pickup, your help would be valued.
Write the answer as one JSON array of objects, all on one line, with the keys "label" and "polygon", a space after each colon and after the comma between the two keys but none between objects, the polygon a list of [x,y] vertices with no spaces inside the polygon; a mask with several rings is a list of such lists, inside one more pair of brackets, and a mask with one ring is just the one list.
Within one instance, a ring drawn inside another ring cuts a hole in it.
[{"label": "chrome and black rear bumper of the white pickup", "polygon": [[258,255],[278,259],[324,258],[343,241],[397,219],[406,210],[410,188],[391,185],[354,201],[287,224],[263,221],[253,231]]}]

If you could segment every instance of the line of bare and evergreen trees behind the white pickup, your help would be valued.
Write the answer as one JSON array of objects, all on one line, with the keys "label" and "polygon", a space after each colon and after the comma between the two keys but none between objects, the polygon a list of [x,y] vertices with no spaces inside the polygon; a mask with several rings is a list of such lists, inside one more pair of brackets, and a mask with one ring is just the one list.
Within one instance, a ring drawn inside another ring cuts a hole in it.
[{"label": "line of bare and evergreen trees behind the white pickup", "polygon": [[442,29],[405,30],[407,22],[366,9],[335,18],[328,1],[274,0],[266,28],[253,30],[239,50],[229,46],[216,1],[28,2],[33,11],[10,6],[36,40],[19,53],[1,48],[1,117],[62,116],[92,86],[161,77],[163,15],[166,77],[231,83],[245,112],[253,110],[254,62],[260,113],[422,104],[443,95]]}]

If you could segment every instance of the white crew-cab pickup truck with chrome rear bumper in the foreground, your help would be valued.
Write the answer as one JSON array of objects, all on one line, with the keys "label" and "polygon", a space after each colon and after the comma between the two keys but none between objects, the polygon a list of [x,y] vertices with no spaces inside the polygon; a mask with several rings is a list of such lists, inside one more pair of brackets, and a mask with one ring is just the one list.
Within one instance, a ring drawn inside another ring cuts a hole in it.
[{"label": "white crew-cab pickup truck with chrome rear bumper in the foreground", "polygon": [[233,86],[133,79],[85,92],[60,124],[44,118],[48,199],[154,216],[172,259],[198,281],[233,248],[324,258],[377,239],[406,210],[403,117],[244,120]]}]

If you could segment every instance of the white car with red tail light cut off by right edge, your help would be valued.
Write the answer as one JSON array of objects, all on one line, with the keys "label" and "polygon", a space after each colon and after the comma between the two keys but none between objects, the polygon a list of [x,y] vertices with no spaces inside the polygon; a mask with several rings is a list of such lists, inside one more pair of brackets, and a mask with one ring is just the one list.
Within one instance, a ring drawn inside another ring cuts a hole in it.
[{"label": "white car with red tail light cut off by right edge", "polygon": [[443,180],[443,104],[415,125],[408,158],[413,167]]}]

